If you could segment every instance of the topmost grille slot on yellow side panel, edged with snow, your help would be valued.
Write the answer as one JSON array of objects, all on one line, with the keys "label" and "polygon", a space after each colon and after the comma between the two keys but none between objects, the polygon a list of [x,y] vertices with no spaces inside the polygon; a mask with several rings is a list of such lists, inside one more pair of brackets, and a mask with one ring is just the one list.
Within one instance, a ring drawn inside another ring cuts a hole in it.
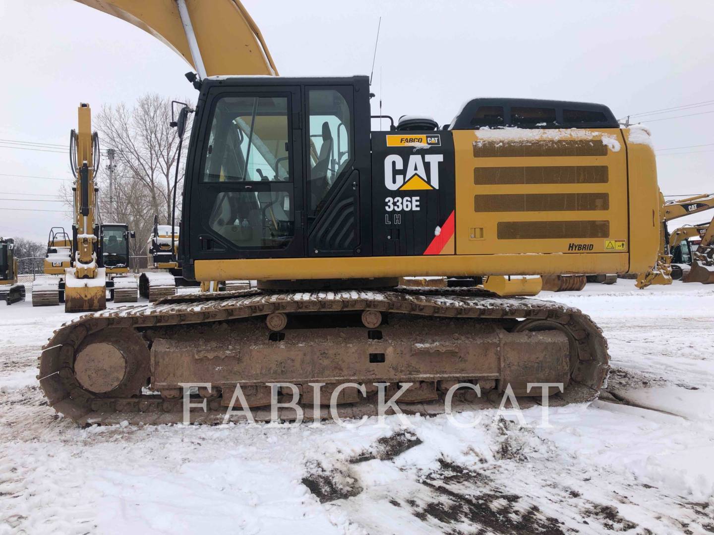
[{"label": "topmost grille slot on yellow side panel, edged with snow", "polygon": [[567,141],[475,141],[474,158],[493,156],[607,156],[608,148],[599,139]]}]

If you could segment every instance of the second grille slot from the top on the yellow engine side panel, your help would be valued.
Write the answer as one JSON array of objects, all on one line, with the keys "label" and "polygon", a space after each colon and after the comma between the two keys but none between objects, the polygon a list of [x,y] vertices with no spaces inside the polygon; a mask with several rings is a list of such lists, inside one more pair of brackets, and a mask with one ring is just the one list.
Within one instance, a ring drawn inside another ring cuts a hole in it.
[{"label": "second grille slot from the top on the yellow engine side panel", "polygon": [[476,185],[498,184],[605,184],[607,165],[558,165],[551,167],[477,167]]}]

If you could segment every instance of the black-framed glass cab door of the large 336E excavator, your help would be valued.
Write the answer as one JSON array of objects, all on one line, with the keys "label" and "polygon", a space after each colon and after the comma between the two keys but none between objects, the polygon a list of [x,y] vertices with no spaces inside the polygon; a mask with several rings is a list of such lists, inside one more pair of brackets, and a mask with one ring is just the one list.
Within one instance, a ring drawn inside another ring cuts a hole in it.
[{"label": "black-framed glass cab door of the large 336E excavator", "polygon": [[198,136],[201,158],[193,168],[193,257],[303,256],[300,88],[216,88],[206,106]]}]

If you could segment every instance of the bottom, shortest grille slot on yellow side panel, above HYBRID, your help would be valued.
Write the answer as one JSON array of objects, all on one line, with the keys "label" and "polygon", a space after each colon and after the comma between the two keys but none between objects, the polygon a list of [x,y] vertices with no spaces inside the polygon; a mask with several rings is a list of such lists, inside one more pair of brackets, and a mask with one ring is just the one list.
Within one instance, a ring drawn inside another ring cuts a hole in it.
[{"label": "bottom, shortest grille slot on yellow side panel, above HYBRID", "polygon": [[499,240],[545,240],[558,238],[608,238],[609,221],[502,221]]}]

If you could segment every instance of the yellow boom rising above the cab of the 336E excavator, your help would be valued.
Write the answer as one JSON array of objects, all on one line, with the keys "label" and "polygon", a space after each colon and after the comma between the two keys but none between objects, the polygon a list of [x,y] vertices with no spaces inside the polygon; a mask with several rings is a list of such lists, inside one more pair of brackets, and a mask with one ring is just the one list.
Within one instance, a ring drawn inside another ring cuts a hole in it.
[{"label": "yellow boom rising above the cab of the 336E excavator", "polygon": [[134,24],[163,41],[201,78],[221,74],[278,76],[261,31],[239,0],[76,1]]}]

